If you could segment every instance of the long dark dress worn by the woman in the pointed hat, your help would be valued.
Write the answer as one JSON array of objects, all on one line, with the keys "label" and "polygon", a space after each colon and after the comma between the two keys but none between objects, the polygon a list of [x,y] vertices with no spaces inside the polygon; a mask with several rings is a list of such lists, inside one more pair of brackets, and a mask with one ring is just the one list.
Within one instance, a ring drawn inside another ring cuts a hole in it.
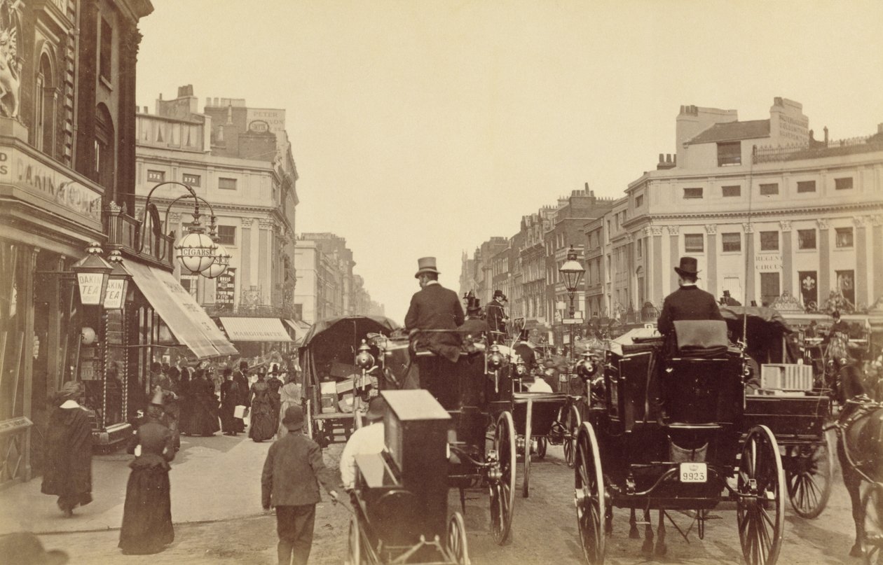
[{"label": "long dark dress worn by the woman in the pointed hat", "polygon": [[119,547],[124,554],[156,554],[175,540],[171,523],[169,462],[175,458],[175,438],[168,426],[148,418],[129,441],[128,452],[141,446],[129,466],[132,473],[125,487],[123,526]]}]

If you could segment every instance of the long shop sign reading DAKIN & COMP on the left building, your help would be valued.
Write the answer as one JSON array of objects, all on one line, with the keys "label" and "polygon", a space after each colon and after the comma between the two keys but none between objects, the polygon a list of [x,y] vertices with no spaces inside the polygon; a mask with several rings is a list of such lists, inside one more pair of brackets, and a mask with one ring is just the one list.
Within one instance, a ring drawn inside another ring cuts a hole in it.
[{"label": "long shop sign reading DAKIN & COMP on the left building", "polygon": [[0,147],[0,185],[47,200],[83,219],[102,221],[101,192],[19,149]]}]

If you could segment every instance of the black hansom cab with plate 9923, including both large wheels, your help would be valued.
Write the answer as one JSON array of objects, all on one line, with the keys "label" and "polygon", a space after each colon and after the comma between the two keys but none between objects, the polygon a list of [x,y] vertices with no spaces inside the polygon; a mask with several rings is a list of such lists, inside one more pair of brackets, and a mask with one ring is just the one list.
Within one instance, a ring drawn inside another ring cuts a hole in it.
[{"label": "black hansom cab with plate 9923, including both large wheels", "polygon": [[[636,535],[634,511],[644,511],[642,549],[661,555],[666,519],[684,539],[694,527],[702,539],[708,512],[723,501],[736,504],[745,561],[772,565],[778,558],[785,519],[778,442],[762,425],[743,438],[743,352],[726,348],[721,321],[692,323],[719,348],[704,356],[684,350],[663,356],[653,343],[608,351],[604,410],[593,412],[577,436],[577,527],[589,563],[604,561],[615,507],[632,510]],[[659,510],[655,544],[653,509]],[[676,524],[671,510],[690,513],[691,524]]]}]

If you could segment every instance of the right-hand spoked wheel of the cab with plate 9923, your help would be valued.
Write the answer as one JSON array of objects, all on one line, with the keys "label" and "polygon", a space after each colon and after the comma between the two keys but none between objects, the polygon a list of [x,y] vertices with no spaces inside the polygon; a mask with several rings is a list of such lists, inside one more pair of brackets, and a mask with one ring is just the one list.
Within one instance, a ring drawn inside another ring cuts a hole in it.
[{"label": "right-hand spoked wheel of the cab with plate 9923", "polygon": [[779,446],[766,426],[745,438],[736,478],[736,521],[748,565],[773,565],[785,526],[785,471]]}]

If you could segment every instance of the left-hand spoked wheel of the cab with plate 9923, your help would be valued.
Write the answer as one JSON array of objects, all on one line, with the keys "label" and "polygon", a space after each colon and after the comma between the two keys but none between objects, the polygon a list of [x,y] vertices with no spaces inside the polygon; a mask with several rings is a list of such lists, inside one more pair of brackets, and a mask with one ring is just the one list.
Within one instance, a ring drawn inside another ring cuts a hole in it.
[{"label": "left-hand spoked wheel of the cab with plate 9923", "polygon": [[589,422],[579,428],[575,460],[574,486],[579,540],[582,542],[585,561],[592,565],[600,564],[604,562],[604,475],[601,473],[598,440]]}]

